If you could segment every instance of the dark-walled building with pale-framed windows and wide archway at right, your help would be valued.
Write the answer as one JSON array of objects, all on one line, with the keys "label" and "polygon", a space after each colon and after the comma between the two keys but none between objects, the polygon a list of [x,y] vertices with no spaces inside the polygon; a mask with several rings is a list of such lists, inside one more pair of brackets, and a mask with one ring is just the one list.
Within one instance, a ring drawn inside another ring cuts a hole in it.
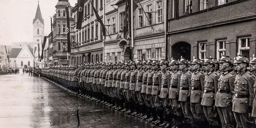
[{"label": "dark-walled building with pale-framed windows and wide archway at right", "polygon": [[174,20],[174,0],[168,2],[170,57],[255,54],[255,0],[179,0],[178,20]]}]

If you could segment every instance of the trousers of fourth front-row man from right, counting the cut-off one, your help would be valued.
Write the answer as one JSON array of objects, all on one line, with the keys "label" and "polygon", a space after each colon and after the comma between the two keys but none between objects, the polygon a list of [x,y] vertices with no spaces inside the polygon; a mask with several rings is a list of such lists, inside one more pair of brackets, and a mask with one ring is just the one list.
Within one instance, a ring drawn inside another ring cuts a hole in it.
[{"label": "trousers of fourth front-row man from right, counting the cut-off one", "polygon": [[214,106],[203,106],[204,109],[204,114],[206,116],[207,121],[209,122],[210,125],[219,125],[218,123],[218,110]]}]

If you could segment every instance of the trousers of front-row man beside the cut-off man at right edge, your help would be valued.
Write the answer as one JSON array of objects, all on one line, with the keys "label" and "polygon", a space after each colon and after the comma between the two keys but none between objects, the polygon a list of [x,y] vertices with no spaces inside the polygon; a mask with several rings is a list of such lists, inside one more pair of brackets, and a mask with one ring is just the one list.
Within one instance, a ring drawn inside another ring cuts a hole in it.
[{"label": "trousers of front-row man beside the cut-off man at right edge", "polygon": [[236,127],[238,128],[255,128],[256,125],[252,117],[249,117],[248,113],[233,112],[236,121]]}]

